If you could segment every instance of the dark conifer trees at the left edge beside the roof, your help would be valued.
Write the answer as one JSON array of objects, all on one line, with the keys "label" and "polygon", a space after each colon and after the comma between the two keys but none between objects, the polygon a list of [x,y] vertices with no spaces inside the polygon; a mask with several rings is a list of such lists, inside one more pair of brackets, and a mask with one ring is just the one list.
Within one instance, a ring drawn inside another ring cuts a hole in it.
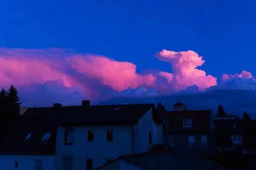
[{"label": "dark conifer trees at the left edge beside the roof", "polygon": [[20,98],[13,85],[8,90],[0,91],[0,141],[6,136],[12,125],[20,117]]}]

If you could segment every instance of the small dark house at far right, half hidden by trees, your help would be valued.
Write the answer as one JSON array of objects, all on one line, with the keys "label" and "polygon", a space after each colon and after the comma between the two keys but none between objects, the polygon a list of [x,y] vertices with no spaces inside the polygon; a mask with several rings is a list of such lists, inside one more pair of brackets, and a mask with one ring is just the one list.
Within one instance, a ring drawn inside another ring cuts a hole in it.
[{"label": "small dark house at far right, half hidden by trees", "polygon": [[243,119],[215,119],[216,130],[226,130],[235,146],[241,145],[244,139]]}]

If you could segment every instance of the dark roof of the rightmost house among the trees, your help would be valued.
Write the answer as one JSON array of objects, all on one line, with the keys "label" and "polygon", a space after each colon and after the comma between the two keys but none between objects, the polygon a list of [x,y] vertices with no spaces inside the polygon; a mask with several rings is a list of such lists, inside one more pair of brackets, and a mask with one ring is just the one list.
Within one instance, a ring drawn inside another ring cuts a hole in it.
[{"label": "dark roof of the rightmost house among the trees", "polygon": [[[214,125],[216,130],[227,130],[231,134],[244,133],[243,119],[214,119]],[[233,128],[233,125],[236,125],[236,128]]]}]

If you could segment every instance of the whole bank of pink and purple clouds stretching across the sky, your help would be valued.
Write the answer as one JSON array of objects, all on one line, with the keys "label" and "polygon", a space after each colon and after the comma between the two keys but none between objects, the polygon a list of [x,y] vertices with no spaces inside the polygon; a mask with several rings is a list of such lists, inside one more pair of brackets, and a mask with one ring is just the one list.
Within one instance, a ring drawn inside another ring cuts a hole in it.
[{"label": "whole bank of pink and purple clouds stretching across the sky", "polygon": [[205,61],[194,51],[162,50],[154,57],[169,62],[172,73],[151,68],[138,73],[134,63],[71,49],[0,48],[0,85],[15,85],[23,105],[29,107],[52,102],[72,105],[81,99],[256,88],[256,79],[247,71],[223,74],[217,85],[217,78],[198,68]]}]

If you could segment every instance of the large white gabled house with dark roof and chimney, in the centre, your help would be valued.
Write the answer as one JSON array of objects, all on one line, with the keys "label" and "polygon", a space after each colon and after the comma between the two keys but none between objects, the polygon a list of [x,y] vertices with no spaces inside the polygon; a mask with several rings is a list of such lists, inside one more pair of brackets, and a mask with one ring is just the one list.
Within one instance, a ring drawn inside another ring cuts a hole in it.
[{"label": "large white gabled house with dark roof and chimney, in the centre", "polygon": [[90,170],[163,143],[153,104],[86,106],[58,121],[55,170]]}]

